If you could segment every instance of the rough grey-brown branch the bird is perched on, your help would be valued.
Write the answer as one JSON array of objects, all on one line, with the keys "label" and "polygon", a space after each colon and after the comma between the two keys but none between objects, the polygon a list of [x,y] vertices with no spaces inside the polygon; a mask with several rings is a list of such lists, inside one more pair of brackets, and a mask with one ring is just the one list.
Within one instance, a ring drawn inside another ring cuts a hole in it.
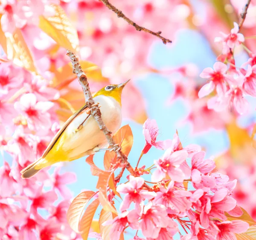
[{"label": "rough grey-brown branch the bird is perched on", "polygon": [[[81,65],[79,64],[78,57],[75,55],[75,53],[71,52],[70,50],[67,50],[67,55],[70,57],[72,66],[73,66],[73,73],[75,73],[79,79],[79,83],[81,84],[81,87],[84,92],[85,101],[87,103],[88,108],[91,109],[91,115],[99,125],[99,129],[102,130],[102,132],[105,134],[109,146],[114,149],[117,160],[121,160],[121,163],[125,166],[125,168],[131,173],[131,175],[136,176],[136,173],[134,171],[134,168],[130,165],[130,163],[127,161],[127,157],[124,153],[121,151],[121,147],[117,147],[116,143],[114,142],[111,131],[109,131],[102,121],[101,118],[101,112],[99,110],[98,104],[95,104],[92,94],[90,92],[89,84],[87,81],[87,77],[84,73],[84,71],[81,68]],[[146,184],[143,185],[144,188],[150,189],[150,187]]]}]

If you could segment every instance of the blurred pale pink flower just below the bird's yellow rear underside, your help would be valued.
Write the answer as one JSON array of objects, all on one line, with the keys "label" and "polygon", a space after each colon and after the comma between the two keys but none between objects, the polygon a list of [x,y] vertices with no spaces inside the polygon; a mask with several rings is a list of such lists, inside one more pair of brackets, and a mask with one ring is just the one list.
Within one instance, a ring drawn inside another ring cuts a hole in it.
[{"label": "blurred pale pink flower just below the bird's yellow rear underside", "polygon": [[61,196],[64,197],[64,199],[70,199],[72,197],[72,193],[67,188],[67,184],[76,182],[76,174],[75,173],[63,173],[59,174],[60,168],[55,168],[53,173],[53,187],[58,189]]}]

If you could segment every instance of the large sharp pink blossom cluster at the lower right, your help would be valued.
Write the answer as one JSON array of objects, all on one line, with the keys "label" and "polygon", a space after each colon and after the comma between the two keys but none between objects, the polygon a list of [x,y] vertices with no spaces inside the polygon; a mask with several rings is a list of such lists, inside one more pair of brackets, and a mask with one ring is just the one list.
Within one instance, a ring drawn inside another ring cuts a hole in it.
[{"label": "large sharp pink blossom cluster at the lower right", "polygon": [[[154,120],[147,120],[144,133],[151,133],[155,141],[158,131]],[[147,131],[145,131],[147,130]],[[148,134],[145,134],[149,142]],[[156,145],[157,147],[158,145]],[[129,176],[116,191],[124,194],[121,213],[103,223],[111,226],[111,239],[119,240],[120,234],[130,227],[137,230],[134,240],[168,240],[180,233],[181,240],[236,240],[235,233],[243,233],[249,224],[242,220],[228,220],[242,215],[233,197],[236,180],[214,173],[215,162],[205,159],[205,152],[198,145],[183,148],[175,133],[172,142],[160,159],[148,169],[153,171],[150,188],[142,176]],[[138,237],[138,232],[144,237]],[[91,236],[101,239],[100,234]]]}]

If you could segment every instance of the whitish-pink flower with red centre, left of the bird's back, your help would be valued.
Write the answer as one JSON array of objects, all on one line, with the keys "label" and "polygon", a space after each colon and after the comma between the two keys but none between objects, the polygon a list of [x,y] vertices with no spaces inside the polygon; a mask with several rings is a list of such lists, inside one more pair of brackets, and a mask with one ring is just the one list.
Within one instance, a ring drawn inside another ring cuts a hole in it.
[{"label": "whitish-pink flower with red centre, left of the bird's back", "polygon": [[15,102],[15,108],[24,114],[31,130],[47,130],[51,127],[50,114],[47,111],[53,105],[50,101],[37,102],[33,93],[24,94],[19,102]]}]

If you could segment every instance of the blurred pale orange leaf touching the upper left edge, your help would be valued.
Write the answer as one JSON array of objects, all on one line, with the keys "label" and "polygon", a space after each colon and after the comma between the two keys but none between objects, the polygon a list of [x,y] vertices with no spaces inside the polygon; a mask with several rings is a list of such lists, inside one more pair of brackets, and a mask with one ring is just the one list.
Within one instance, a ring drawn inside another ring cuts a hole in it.
[{"label": "blurred pale orange leaf touching the upper left edge", "polygon": [[[2,15],[0,14],[1,17]],[[7,58],[12,59],[14,64],[31,72],[36,72],[32,55],[20,29],[15,29],[13,34],[8,33],[6,37],[0,26],[0,44]]]}]

